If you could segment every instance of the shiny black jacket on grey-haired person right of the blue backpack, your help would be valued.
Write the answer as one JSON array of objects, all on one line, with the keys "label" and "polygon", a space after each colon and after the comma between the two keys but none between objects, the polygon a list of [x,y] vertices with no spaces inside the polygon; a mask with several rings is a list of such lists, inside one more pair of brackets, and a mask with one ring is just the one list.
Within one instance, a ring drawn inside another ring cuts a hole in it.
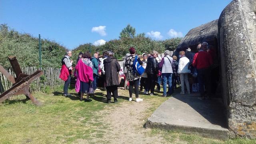
[{"label": "shiny black jacket on grey-haired person right of the blue backpack", "polygon": [[158,74],[158,62],[156,58],[150,56],[148,58],[147,66],[146,66],[147,74]]}]

